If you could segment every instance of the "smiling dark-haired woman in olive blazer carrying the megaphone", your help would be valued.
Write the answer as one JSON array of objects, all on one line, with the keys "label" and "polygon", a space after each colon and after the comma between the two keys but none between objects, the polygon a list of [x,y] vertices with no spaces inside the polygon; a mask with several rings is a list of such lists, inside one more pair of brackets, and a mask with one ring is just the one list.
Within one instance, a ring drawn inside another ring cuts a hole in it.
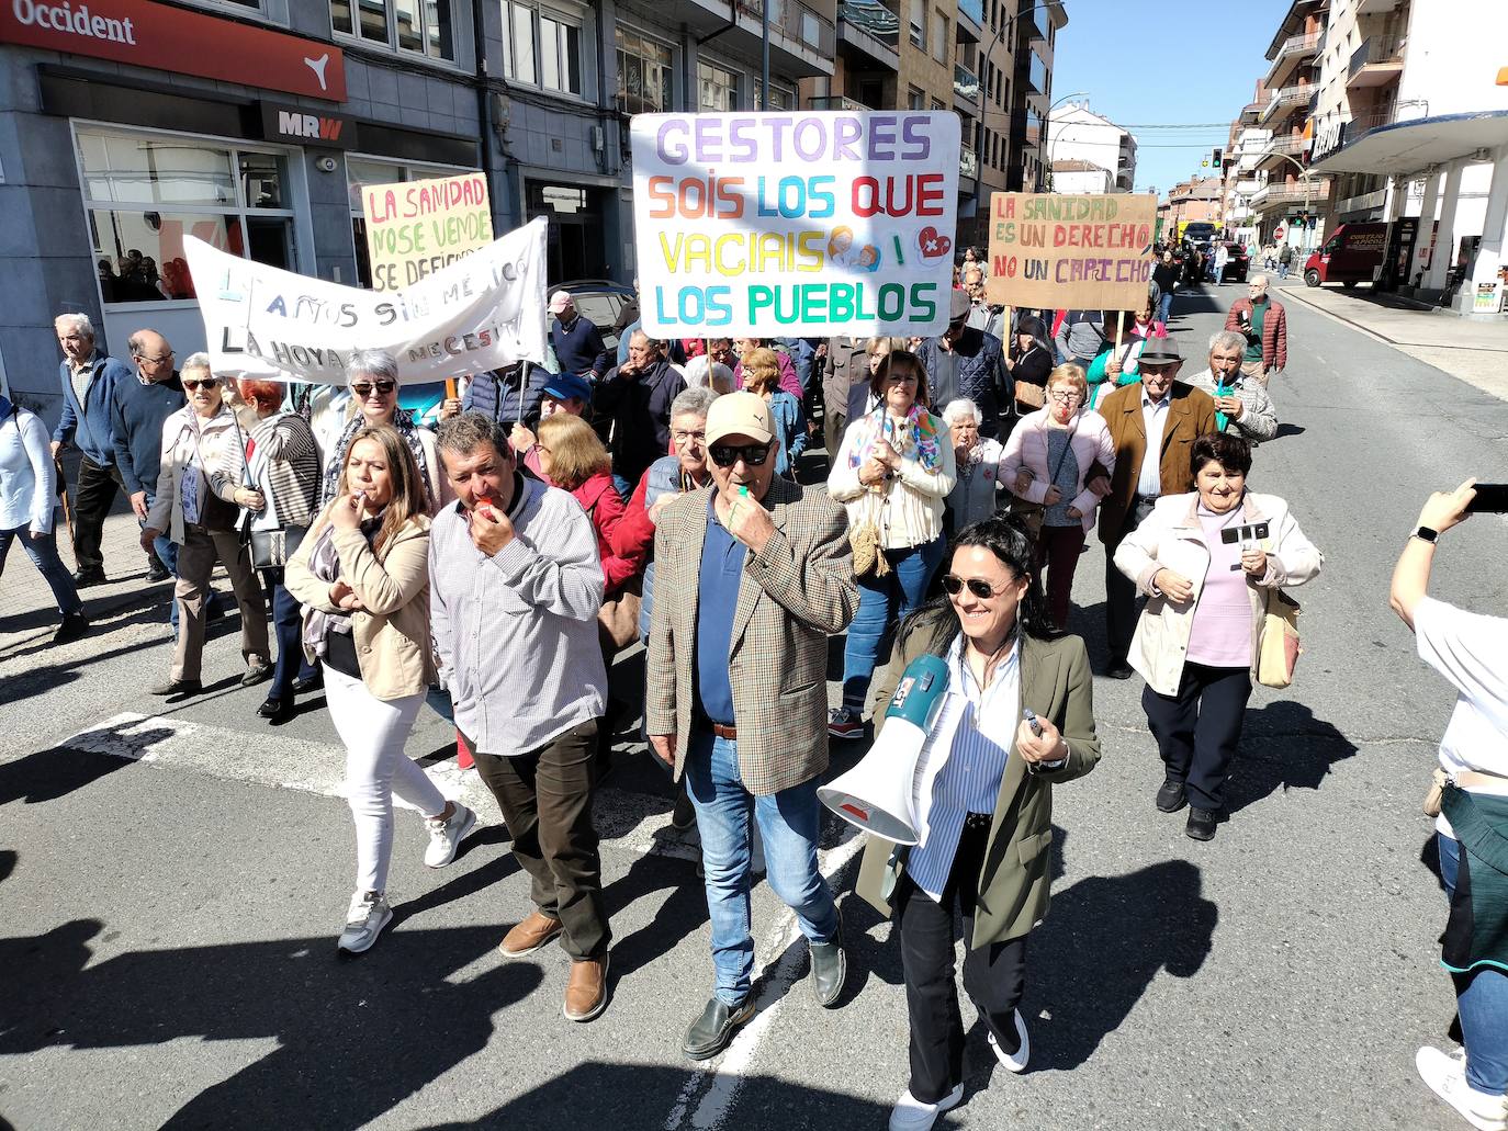
[{"label": "smiling dark-haired woman in olive blazer carrying the megaphone", "polygon": [[[947,665],[947,698],[929,722],[914,801],[917,844],[872,837],[858,893],[893,915],[911,1016],[911,1081],[891,1131],[924,1131],[964,1095],[964,1022],[953,985],[953,908],[962,912],[964,988],[1000,1063],[1030,1056],[1016,1006],[1027,935],[1047,914],[1053,786],[1099,762],[1093,682],[1078,636],[1047,617],[1031,538],[1004,517],[953,546],[944,597],[909,617],[879,682],[896,695],[923,656]],[[875,713],[876,740],[885,725]]]}]

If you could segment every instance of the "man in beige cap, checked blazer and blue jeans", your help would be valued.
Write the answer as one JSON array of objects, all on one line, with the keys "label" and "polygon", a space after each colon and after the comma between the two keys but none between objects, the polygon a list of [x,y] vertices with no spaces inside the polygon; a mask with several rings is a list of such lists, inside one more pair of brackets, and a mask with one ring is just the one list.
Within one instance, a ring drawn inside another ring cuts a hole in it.
[{"label": "man in beige cap, checked blazer and blue jeans", "polygon": [[858,608],[847,519],[775,477],[762,397],[707,409],[712,486],[682,495],[654,534],[645,730],[685,777],[701,831],[715,992],[682,1051],[707,1060],[754,1016],[749,814],[771,887],[811,947],[819,1004],[843,992],[832,893],[817,869],[817,778],[828,768],[828,635]]}]

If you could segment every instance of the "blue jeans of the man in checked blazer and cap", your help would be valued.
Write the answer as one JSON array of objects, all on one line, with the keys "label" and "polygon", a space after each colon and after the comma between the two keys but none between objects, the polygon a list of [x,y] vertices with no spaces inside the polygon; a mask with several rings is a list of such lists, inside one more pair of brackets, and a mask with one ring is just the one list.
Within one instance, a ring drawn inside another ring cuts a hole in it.
[{"label": "blue jeans of the man in checked blazer and cap", "polygon": [[838,909],[817,870],[822,807],[817,783],[754,796],[739,777],[739,745],[697,727],[686,749],[686,795],[697,810],[701,863],[707,873],[712,920],[712,967],[716,995],[737,1006],[754,982],[754,935],[749,924],[749,810],[765,840],[765,876],[796,912],[810,942],[832,942]]}]

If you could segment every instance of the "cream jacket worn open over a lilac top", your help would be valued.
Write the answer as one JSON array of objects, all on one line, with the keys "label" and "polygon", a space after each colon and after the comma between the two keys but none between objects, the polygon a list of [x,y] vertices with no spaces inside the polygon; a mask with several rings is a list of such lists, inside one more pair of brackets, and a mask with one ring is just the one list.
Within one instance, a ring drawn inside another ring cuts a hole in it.
[{"label": "cream jacket worn open over a lilac top", "polygon": [[[1247,596],[1252,600],[1252,677],[1256,677],[1258,650],[1255,647],[1262,629],[1262,612],[1267,608],[1267,590],[1303,585],[1320,573],[1324,555],[1298,529],[1288,511],[1288,504],[1276,495],[1246,493],[1241,502],[1246,514],[1241,523],[1265,522],[1268,537],[1262,540],[1267,552],[1267,573],[1261,581],[1247,579]],[[1131,638],[1131,667],[1142,674],[1146,685],[1160,695],[1176,695],[1184,679],[1184,653],[1199,611],[1199,594],[1203,591],[1205,575],[1209,572],[1209,550],[1205,547],[1203,528],[1199,523],[1199,492],[1187,495],[1164,495],[1157,501],[1152,514],[1137,529],[1125,537],[1116,550],[1116,569],[1136,582],[1149,600],[1142,611]],[[1152,590],[1152,578],[1161,569],[1181,573],[1194,584],[1194,596],[1175,605],[1161,593]]]}]

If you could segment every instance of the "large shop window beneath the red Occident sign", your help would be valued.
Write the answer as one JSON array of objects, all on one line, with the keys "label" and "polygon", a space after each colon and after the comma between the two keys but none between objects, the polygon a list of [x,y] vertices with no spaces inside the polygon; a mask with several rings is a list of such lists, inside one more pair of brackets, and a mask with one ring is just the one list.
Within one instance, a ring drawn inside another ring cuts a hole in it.
[{"label": "large shop window beneath the red Occident sign", "polygon": [[231,255],[299,268],[280,154],[80,130],[78,163],[106,303],[193,300],[187,235]]}]

